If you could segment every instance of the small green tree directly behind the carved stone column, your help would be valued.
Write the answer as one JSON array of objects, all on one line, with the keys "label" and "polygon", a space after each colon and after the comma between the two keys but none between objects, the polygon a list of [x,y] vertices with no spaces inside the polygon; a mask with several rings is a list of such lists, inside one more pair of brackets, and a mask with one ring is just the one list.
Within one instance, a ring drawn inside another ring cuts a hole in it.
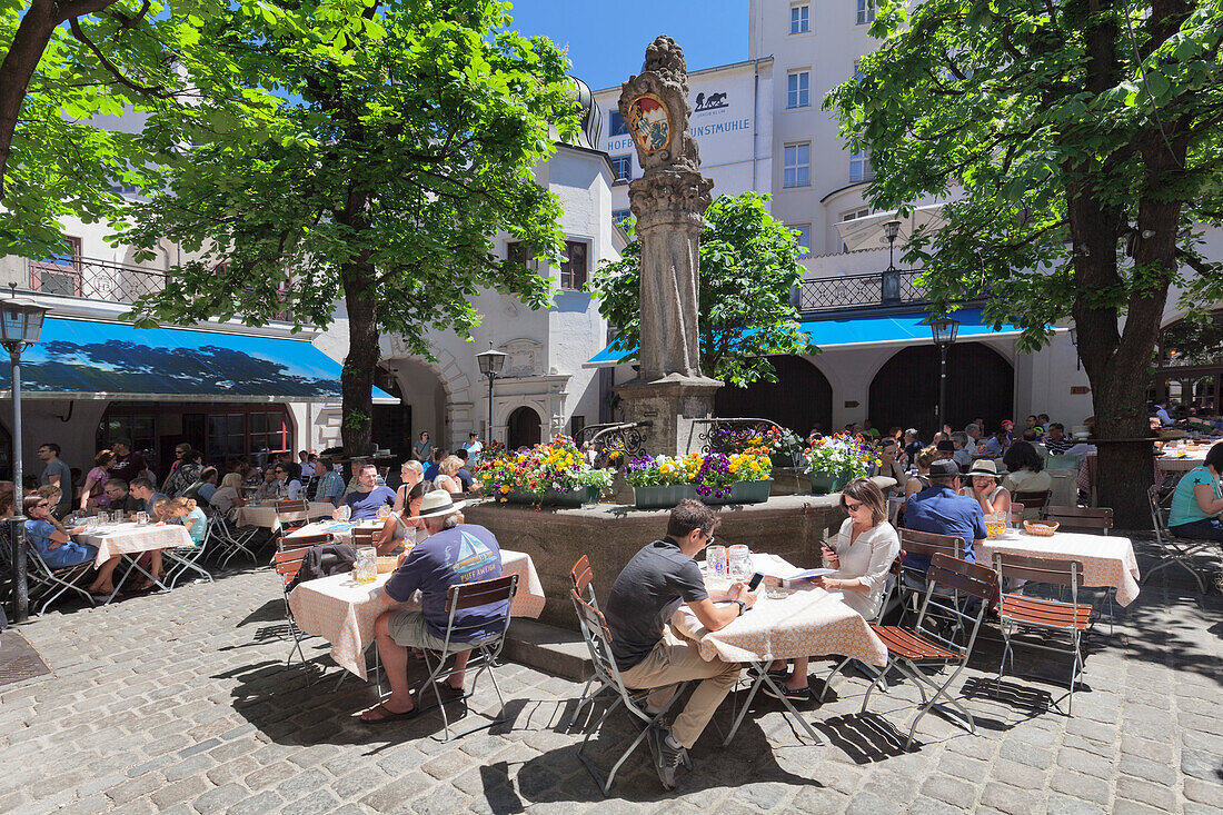
[{"label": "small green tree directly behind the carved stone column", "polygon": [[[701,370],[706,376],[746,385],[775,382],[769,354],[807,354],[790,290],[802,279],[795,234],[773,218],[768,196],[745,192],[713,199],[701,230]],[[641,242],[625,247],[620,261],[604,263],[588,289],[599,311],[620,330],[616,346],[637,348]]]}]

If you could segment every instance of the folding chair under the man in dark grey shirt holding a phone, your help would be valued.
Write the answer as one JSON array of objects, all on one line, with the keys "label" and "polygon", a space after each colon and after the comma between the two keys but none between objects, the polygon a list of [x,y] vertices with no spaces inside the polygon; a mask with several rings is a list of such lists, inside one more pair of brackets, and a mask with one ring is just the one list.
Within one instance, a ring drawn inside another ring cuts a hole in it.
[{"label": "folding chair under the man in dark grey shirt holding a phone", "polygon": [[[581,563],[578,560],[578,563]],[[620,771],[620,767],[629,756],[641,746],[641,743],[646,740],[649,734],[649,728],[656,727],[667,716],[667,712],[675,704],[675,700],[680,698],[684,688],[687,687],[687,682],[676,682],[670,685],[664,685],[662,688],[643,688],[640,690],[630,690],[624,684],[624,678],[620,675],[620,668],[616,667],[615,657],[612,655],[612,631],[608,629],[607,619],[603,617],[603,612],[594,608],[589,603],[578,596],[576,590],[570,590],[570,597],[574,601],[574,608],[577,609],[577,620],[582,629],[582,639],[586,640],[586,647],[589,649],[591,661],[594,664],[594,677],[603,683],[604,687],[612,688],[616,691],[616,700],[608,706],[603,715],[586,733],[586,738],[582,739],[582,744],[577,748],[577,757],[582,760],[586,768],[589,771],[591,776],[594,778],[594,783],[598,784],[599,791],[603,797],[607,798],[609,791],[612,789],[612,783],[615,781],[615,773]],[[670,698],[663,709],[658,713],[649,713],[646,710],[646,700],[657,694],[671,691]],[[598,695],[598,694],[596,694]],[[629,744],[629,748],[620,755],[612,770],[608,772],[604,780],[599,771],[596,770],[589,756],[586,754],[586,745],[589,743],[591,738],[603,727],[603,722],[608,720],[612,713],[624,706],[632,716],[635,716],[645,727],[642,727],[641,733]],[[687,756],[687,750],[684,751],[684,765],[689,768],[692,767],[692,762]]]}]

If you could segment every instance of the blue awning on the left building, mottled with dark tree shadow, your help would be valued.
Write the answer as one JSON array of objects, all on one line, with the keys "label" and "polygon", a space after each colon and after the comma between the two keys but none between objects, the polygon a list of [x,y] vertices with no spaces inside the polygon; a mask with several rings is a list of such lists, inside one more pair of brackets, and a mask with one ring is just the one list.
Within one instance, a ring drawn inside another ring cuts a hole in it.
[{"label": "blue awning on the left building, mottled with dark tree shadow", "polygon": [[[307,340],[49,317],[22,394],[141,401],[340,401],[340,363]],[[9,366],[0,385],[10,389]],[[375,401],[399,400],[378,388]]]}]

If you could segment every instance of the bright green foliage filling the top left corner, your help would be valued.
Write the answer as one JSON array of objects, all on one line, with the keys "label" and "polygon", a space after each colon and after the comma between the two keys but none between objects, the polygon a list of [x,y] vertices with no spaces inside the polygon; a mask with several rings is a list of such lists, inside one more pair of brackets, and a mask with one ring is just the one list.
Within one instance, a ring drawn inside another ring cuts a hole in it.
[{"label": "bright green foliage filling the top left corner", "polygon": [[[64,250],[59,219],[114,219],[115,186],[153,187],[158,162],[141,132],[98,127],[128,111],[143,126],[190,138],[203,125],[188,104],[258,104],[236,92],[225,61],[201,35],[227,4],[183,0],[31,0],[0,9],[0,253]],[[117,120],[115,120],[117,121]]]}]

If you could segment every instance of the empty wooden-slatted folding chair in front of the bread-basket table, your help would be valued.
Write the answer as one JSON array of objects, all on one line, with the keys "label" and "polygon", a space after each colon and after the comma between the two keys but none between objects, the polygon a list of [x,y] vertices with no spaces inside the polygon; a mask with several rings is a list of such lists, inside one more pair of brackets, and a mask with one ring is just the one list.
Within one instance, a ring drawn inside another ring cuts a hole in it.
[{"label": "empty wooden-slatted folding chair in front of the bread-basket table", "polygon": [[1002,682],[1003,672],[1007,668],[1007,656],[1010,656],[1010,667],[1015,668],[1015,651],[1013,636],[1024,629],[1035,629],[1044,635],[1065,634],[1069,639],[1069,647],[1055,647],[1047,645],[1048,638],[1042,642],[1021,641],[1019,645],[1053,651],[1055,653],[1073,653],[1074,663],[1070,667],[1070,693],[1066,702],[1066,713],[1074,710],[1074,687],[1079,673],[1082,671],[1082,635],[1091,625],[1093,607],[1091,603],[1079,602],[1079,590],[1082,589],[1082,564],[1077,560],[1053,560],[1049,558],[1027,557],[1020,554],[994,553],[994,569],[999,581],[1003,578],[1026,580],[1029,582],[1046,582],[1057,586],[1070,587],[1070,602],[1064,603],[1055,600],[1037,600],[1024,595],[1004,594],[998,605],[998,619],[1002,628],[1003,652],[1002,663],[998,666],[998,682]]}]

